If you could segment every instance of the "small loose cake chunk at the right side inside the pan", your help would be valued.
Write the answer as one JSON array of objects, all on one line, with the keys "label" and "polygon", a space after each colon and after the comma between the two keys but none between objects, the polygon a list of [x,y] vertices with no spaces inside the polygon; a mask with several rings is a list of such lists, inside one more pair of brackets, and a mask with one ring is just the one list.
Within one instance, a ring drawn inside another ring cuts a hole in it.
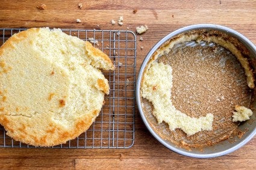
[{"label": "small loose cake chunk at the right side inside the pan", "polygon": [[252,115],[252,110],[249,108],[246,108],[244,106],[235,106],[236,112],[233,112],[233,120],[236,121],[246,121],[249,120]]}]

